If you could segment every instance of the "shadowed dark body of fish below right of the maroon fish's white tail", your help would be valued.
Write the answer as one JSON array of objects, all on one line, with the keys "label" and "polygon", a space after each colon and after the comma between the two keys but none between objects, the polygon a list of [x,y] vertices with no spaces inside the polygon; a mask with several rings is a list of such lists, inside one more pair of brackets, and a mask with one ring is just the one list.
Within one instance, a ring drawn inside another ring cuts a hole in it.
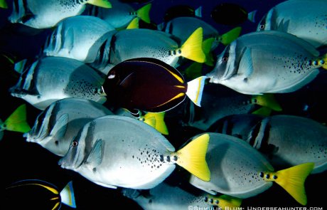
[{"label": "shadowed dark body of fish below right of the maroon fish's white tail", "polygon": [[250,113],[256,108],[251,95],[237,93],[223,85],[208,83],[203,89],[201,107],[188,103],[186,125],[208,130],[214,122],[227,115]]}]

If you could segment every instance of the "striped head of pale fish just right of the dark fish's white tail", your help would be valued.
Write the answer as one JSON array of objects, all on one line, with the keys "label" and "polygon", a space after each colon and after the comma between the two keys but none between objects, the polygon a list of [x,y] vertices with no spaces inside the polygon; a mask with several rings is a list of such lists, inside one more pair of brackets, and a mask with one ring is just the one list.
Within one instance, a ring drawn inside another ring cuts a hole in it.
[{"label": "striped head of pale fish just right of the dark fish's white tail", "polygon": [[206,74],[210,78],[210,83],[220,83],[221,80],[227,80],[237,72],[236,61],[236,41],[233,41],[225,47],[224,51],[217,56],[215,68]]}]

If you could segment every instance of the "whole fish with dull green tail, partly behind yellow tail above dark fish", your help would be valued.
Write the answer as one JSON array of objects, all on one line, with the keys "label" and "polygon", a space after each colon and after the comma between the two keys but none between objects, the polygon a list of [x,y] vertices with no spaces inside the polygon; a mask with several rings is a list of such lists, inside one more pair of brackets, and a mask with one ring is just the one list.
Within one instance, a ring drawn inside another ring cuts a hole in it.
[{"label": "whole fish with dull green tail, partly behind yellow tail above dark fish", "polygon": [[242,31],[242,28],[237,26],[232,28],[230,31],[221,34],[216,28],[202,19],[188,16],[172,19],[171,21],[164,23],[164,26],[159,26],[159,30],[176,36],[178,41],[183,43],[198,27],[203,28],[203,41],[207,40],[208,38],[214,39],[212,46],[210,46],[210,51],[215,50],[215,48],[219,46],[219,43],[223,43],[224,46],[227,46],[232,41],[235,41],[235,39],[240,36]]}]

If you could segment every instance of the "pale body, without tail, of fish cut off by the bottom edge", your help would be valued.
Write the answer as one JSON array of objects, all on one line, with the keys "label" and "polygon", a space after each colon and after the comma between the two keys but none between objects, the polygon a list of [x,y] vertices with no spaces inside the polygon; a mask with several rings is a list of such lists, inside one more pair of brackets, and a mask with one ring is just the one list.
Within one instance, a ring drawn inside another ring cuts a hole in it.
[{"label": "pale body, without tail, of fish cut off by the bottom edge", "polygon": [[181,187],[171,186],[165,182],[149,189],[149,195],[144,196],[136,189],[122,189],[122,194],[136,201],[144,210],[187,209],[188,206],[199,209],[213,208],[213,204],[209,203],[208,193],[198,191],[190,193]]}]

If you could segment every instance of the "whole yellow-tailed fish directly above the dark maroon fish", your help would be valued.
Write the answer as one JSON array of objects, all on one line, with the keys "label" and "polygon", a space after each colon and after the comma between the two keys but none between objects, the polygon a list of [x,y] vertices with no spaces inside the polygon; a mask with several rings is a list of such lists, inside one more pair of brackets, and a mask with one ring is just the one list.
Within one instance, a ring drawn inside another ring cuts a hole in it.
[{"label": "whole yellow-tailed fish directly above the dark maroon fish", "polygon": [[[148,28],[134,28],[118,31],[106,41],[98,52],[95,62],[104,63],[109,70],[132,58],[156,58],[173,67],[178,66],[181,57],[199,63],[205,62],[202,50],[203,29],[197,28],[182,45],[163,31]],[[100,61],[100,62],[98,62]]]}]

